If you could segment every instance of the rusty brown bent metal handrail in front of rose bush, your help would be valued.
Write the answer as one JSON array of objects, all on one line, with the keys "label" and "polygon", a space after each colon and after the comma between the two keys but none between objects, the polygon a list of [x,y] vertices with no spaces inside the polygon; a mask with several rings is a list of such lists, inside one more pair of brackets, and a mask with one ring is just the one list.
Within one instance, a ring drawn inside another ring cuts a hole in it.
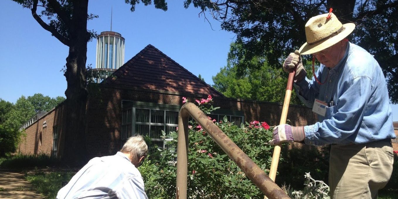
[{"label": "rusty brown bent metal handrail in front of rose bush", "polygon": [[269,199],[289,199],[289,196],[265,174],[232,140],[215,125],[199,107],[193,103],[184,104],[178,113],[178,145],[177,145],[177,187],[176,199],[187,198],[187,149],[189,115],[201,125],[207,134],[222,150],[238,165],[249,179]]}]

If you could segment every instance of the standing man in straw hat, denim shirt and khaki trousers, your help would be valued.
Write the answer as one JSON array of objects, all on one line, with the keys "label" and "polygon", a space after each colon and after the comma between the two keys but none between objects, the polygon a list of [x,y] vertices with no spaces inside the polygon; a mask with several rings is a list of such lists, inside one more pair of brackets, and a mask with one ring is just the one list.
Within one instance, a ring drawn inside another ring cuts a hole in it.
[{"label": "standing man in straw hat, denim shirt and khaki trousers", "polygon": [[[341,24],[332,13],[310,18],[307,42],[283,63],[297,67],[298,98],[319,122],[304,127],[279,125],[270,144],[296,141],[331,144],[329,185],[332,198],[377,198],[391,177],[395,138],[384,74],[371,54],[346,37],[355,24]],[[301,55],[320,62],[308,80]]]}]

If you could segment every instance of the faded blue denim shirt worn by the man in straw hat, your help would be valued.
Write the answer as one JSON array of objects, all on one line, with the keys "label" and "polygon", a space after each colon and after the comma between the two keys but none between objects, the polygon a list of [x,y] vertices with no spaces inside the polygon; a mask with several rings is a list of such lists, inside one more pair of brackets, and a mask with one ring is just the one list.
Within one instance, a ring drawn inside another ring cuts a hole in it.
[{"label": "faded blue denim shirt worn by the man in straw hat", "polygon": [[[343,59],[334,67],[320,65],[320,82],[305,78],[295,83],[298,98],[308,107],[318,99],[328,104],[325,116],[304,126],[304,143],[362,144],[395,138],[386,79],[371,54],[348,43]],[[332,104],[331,104],[332,103]]]}]

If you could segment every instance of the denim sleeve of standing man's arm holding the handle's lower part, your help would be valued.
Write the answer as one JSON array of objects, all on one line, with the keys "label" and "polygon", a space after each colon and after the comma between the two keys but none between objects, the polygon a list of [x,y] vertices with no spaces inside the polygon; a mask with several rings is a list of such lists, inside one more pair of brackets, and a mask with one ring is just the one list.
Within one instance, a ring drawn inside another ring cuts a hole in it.
[{"label": "denim sleeve of standing man's arm holding the handle's lower part", "polygon": [[338,98],[337,104],[330,107],[331,117],[314,125],[304,127],[306,144],[348,144],[347,138],[357,133],[361,125],[368,100],[373,90],[369,77],[354,78]]}]

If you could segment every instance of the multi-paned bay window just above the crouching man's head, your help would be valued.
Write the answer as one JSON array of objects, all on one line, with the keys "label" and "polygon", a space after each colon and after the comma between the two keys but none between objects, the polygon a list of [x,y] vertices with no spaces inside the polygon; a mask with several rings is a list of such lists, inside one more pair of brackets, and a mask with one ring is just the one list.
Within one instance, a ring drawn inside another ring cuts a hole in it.
[{"label": "multi-paned bay window just above the crouching man's head", "polygon": [[[178,109],[166,110],[162,108],[130,107],[123,110],[122,144],[132,135],[149,136],[152,144],[158,148],[168,148],[162,140],[162,131],[166,136],[178,127]],[[172,140],[166,137],[166,140]]]}]

